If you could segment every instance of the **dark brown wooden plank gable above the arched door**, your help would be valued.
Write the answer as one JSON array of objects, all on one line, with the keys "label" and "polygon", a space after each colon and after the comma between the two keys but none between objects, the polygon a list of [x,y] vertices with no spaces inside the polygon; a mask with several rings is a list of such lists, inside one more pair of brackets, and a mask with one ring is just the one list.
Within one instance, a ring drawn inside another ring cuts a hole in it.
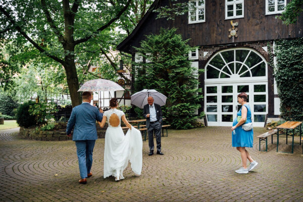
[{"label": "dark brown wooden plank gable above the arched door", "polygon": [[[177,33],[181,34],[183,39],[191,39],[190,46],[232,43],[232,39],[228,37],[230,19],[225,20],[225,0],[206,0],[206,22],[195,24],[188,24],[188,14],[178,16],[175,20],[155,20],[157,13],[151,10],[167,4],[168,0],[156,0],[132,34],[118,45],[118,49],[132,53],[132,46],[138,47],[145,35],[157,34],[162,27],[178,28]],[[299,16],[296,24],[286,26],[276,18],[277,14],[265,14],[265,4],[266,0],[244,0],[244,17],[233,20],[239,23],[235,43],[303,37],[303,15]]]}]

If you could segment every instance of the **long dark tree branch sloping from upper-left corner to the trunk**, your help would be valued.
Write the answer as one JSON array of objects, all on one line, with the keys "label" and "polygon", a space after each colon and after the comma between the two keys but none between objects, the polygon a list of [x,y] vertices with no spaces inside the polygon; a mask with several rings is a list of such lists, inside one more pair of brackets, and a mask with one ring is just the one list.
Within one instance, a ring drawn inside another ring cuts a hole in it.
[{"label": "long dark tree branch sloping from upper-left corner to the trunk", "polygon": [[10,16],[8,12],[0,5],[0,11],[7,17],[7,19],[16,27],[17,31],[24,36],[34,47],[38,49],[39,52],[44,53],[47,57],[52,58],[53,60],[61,63],[64,65],[64,61],[57,58],[56,56],[52,56],[51,54],[47,53],[43,48],[41,48],[35,41],[33,41],[24,31],[22,31],[21,27],[18,23]]}]

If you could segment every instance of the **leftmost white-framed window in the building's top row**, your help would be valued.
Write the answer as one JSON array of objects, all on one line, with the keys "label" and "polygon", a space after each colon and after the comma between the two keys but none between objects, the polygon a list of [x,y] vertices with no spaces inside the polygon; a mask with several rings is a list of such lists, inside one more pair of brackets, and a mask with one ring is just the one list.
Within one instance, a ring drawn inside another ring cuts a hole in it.
[{"label": "leftmost white-framed window in the building's top row", "polygon": [[188,4],[188,24],[205,22],[205,1],[192,0]]}]

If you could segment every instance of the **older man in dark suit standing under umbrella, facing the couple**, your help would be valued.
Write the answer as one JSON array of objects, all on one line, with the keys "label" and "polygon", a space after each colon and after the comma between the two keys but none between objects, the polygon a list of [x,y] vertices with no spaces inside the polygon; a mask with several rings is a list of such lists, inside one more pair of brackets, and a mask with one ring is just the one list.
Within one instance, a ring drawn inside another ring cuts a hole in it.
[{"label": "older man in dark suit standing under umbrella, facing the couple", "polygon": [[160,105],[154,103],[154,98],[147,98],[147,105],[143,107],[143,116],[146,118],[146,128],[148,131],[149,154],[154,154],[154,132],[157,142],[157,154],[163,155],[161,152],[161,128],[162,128],[162,111]]}]

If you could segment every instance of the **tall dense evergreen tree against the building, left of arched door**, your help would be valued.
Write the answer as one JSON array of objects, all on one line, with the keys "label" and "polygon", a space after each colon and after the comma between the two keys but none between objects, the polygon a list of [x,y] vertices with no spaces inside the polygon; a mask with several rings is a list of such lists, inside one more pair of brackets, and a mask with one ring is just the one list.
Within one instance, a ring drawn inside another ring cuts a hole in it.
[{"label": "tall dense evergreen tree against the building, left of arched door", "polygon": [[176,29],[161,29],[148,35],[136,50],[147,63],[136,63],[135,90],[156,89],[167,96],[163,114],[176,129],[194,127],[203,98],[198,87],[198,71],[191,67],[188,53],[196,47],[187,45]]}]

